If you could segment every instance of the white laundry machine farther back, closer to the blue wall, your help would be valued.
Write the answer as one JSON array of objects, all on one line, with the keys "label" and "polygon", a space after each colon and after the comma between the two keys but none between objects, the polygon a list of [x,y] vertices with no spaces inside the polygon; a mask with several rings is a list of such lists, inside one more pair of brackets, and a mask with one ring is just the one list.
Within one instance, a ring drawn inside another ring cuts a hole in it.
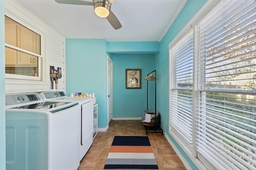
[{"label": "white laundry machine farther back, closer to the blue wall", "polygon": [[93,141],[93,99],[86,97],[66,96],[63,91],[42,92],[44,101],[77,102],[80,107],[80,160],[90,149]]}]

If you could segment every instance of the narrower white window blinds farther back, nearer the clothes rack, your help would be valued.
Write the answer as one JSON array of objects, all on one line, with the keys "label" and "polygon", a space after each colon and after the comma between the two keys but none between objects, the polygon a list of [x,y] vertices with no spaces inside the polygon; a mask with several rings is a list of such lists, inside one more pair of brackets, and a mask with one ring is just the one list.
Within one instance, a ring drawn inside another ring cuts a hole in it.
[{"label": "narrower white window blinds farther back, nearer the clothes rack", "polygon": [[193,33],[170,49],[170,131],[192,146]]}]

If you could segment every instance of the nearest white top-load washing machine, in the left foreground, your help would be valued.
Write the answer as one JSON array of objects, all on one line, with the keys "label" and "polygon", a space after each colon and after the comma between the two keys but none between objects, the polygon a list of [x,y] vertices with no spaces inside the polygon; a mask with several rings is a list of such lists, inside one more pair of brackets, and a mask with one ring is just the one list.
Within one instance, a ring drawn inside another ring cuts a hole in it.
[{"label": "nearest white top-load washing machine, in the left foreground", "polygon": [[76,170],[80,107],[37,93],[6,95],[6,170]]}]

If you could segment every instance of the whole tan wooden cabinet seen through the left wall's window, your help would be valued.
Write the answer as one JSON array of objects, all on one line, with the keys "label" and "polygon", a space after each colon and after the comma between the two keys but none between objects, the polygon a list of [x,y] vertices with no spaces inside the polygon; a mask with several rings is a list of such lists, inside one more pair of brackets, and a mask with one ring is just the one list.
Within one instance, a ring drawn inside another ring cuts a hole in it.
[{"label": "whole tan wooden cabinet seen through the left wall's window", "polygon": [[[5,24],[5,42],[14,47],[40,54],[40,35],[30,29],[11,22]],[[11,48],[5,48],[6,66],[34,66],[38,65],[38,57]]]}]

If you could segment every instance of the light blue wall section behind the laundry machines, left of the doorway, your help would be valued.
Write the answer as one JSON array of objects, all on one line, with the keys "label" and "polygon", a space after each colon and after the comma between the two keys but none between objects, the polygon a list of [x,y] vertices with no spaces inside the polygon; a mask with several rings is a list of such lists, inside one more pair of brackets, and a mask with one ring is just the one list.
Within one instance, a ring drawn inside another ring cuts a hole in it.
[{"label": "light blue wall section behind the laundry machines, left of the doorway", "polygon": [[108,125],[106,56],[103,39],[66,39],[66,93],[95,93],[99,128]]}]

